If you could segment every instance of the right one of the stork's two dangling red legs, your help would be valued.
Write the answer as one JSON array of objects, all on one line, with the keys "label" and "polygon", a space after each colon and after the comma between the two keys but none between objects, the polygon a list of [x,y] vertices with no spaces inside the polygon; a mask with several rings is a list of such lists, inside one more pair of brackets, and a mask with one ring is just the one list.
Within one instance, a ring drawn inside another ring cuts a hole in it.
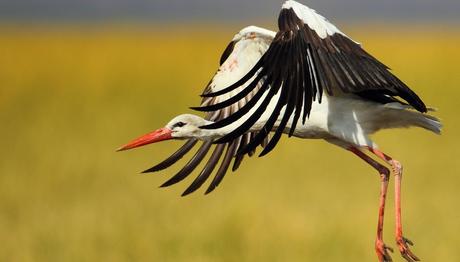
[{"label": "right one of the stork's two dangling red legs", "polygon": [[402,221],[401,221],[401,180],[402,180],[402,165],[399,161],[385,155],[382,151],[369,148],[369,151],[375,154],[380,159],[384,160],[393,168],[395,173],[395,209],[396,209],[396,243],[398,244],[401,255],[409,262],[420,261],[420,259],[412,253],[408,245],[413,243],[403,236]]}]

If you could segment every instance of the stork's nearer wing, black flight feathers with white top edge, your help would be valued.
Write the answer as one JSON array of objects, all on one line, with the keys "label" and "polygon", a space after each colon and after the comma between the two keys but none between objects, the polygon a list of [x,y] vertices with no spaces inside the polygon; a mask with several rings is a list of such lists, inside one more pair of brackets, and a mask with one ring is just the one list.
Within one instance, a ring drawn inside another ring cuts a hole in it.
[{"label": "stork's nearer wing, black flight feathers with white top edge", "polygon": [[[249,118],[241,121],[239,127],[217,140],[217,143],[227,143],[245,134],[270,108],[271,115],[264,127],[251,143],[239,151],[244,154],[256,148],[280,119],[272,139],[261,153],[265,155],[275,147],[290,119],[289,135],[293,134],[300,118],[305,123],[313,101],[318,99],[321,102],[324,92],[330,96],[353,93],[380,102],[399,101],[399,98],[415,109],[426,112],[420,98],[388,67],[316,11],[295,1],[286,1],[278,25],[279,32],[269,49],[248,74],[227,88],[205,94],[206,97],[221,96],[227,92],[233,93],[242,85],[247,85],[249,89],[256,83],[264,82],[258,93],[247,102],[247,107],[227,119],[202,127],[222,128],[241,120],[252,109]],[[218,110],[237,103],[248,91],[241,90],[220,105],[199,110]]]}]

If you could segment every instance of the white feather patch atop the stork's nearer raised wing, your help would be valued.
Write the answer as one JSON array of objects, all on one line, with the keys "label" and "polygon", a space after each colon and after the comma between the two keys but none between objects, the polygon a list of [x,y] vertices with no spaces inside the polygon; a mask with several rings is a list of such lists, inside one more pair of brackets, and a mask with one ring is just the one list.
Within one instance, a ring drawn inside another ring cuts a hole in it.
[{"label": "white feather patch atop the stork's nearer raised wing", "polygon": [[292,9],[296,15],[302,19],[311,29],[322,39],[332,36],[336,33],[346,36],[335,25],[331,24],[325,17],[318,14],[308,6],[302,5],[296,1],[289,0],[283,4],[283,9]]}]

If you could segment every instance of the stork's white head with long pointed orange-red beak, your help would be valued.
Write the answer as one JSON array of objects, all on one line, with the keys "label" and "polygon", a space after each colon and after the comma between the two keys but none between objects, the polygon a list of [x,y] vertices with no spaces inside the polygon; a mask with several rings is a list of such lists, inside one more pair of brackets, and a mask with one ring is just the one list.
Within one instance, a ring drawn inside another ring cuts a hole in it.
[{"label": "stork's white head with long pointed orange-red beak", "polygon": [[118,151],[133,149],[170,139],[188,139],[193,137],[201,138],[204,131],[200,129],[200,126],[204,126],[209,123],[209,121],[206,121],[199,116],[190,114],[179,115],[169,121],[165,127],[134,139],[127,145],[118,149]]}]

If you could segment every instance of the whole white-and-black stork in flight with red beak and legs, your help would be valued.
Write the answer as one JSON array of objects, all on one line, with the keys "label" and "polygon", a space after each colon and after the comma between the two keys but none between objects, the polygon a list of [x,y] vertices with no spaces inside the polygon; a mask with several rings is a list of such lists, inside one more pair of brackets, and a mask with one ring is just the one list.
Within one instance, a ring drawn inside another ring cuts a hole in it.
[{"label": "whole white-and-black stork in flight with red beak and legs", "polygon": [[[201,94],[204,117],[181,114],[165,127],[143,135],[119,151],[171,139],[186,140],[169,158],[143,173],[177,163],[199,142],[188,163],[162,187],[188,177],[205,161],[183,196],[195,192],[215,172],[206,194],[222,182],[232,162],[236,171],[257,149],[264,156],[284,136],[322,139],[374,168],[380,178],[375,252],[392,261],[383,240],[386,196],[395,178],[396,245],[402,257],[420,261],[402,230],[402,164],[379,149],[371,135],[380,130],[420,127],[441,134],[435,111],[390,68],[340,31],[324,16],[299,2],[281,7],[278,31],[257,26],[240,30],[225,48],[219,68]],[[377,160],[372,158],[375,156]],[[217,168],[218,167],[218,168]],[[217,168],[217,170],[216,170]]]}]

